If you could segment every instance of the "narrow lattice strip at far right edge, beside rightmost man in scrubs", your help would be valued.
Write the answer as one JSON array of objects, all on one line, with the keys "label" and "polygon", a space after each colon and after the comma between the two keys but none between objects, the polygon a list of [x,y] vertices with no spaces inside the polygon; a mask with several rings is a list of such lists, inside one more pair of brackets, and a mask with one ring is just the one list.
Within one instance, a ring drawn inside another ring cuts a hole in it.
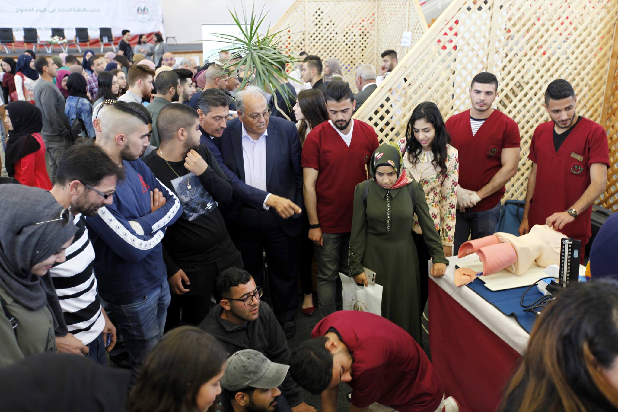
[{"label": "narrow lattice strip at far right edge, beside rightmost man in scrubs", "polygon": [[607,71],[601,124],[607,129],[611,166],[607,170],[607,190],[599,199],[599,204],[616,212],[618,211],[618,24],[614,28],[614,46]]}]

